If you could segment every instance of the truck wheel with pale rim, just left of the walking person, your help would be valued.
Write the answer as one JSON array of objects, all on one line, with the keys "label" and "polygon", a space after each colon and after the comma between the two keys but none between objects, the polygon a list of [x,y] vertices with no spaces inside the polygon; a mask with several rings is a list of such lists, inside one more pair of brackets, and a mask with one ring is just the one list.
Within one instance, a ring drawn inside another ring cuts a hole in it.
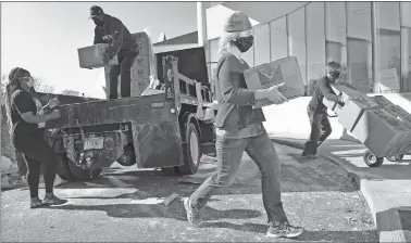
[{"label": "truck wheel with pale rim, just left of the walking person", "polygon": [[183,144],[184,165],[177,167],[177,172],[179,175],[194,175],[200,166],[201,158],[200,137],[198,136],[196,125],[190,123],[187,127],[187,132],[184,135],[187,142]]}]

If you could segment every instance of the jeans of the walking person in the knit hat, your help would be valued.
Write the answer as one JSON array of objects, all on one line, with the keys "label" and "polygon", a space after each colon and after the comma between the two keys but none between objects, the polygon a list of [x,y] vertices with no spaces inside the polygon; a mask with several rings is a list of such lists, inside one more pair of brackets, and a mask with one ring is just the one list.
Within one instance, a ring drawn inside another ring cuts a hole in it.
[{"label": "jeans of the walking person in the knit hat", "polygon": [[216,138],[217,169],[190,196],[191,205],[202,208],[222,187],[234,182],[244,151],[261,171],[262,197],[269,222],[288,222],[281,193],[281,163],[265,129],[262,135],[245,139]]}]

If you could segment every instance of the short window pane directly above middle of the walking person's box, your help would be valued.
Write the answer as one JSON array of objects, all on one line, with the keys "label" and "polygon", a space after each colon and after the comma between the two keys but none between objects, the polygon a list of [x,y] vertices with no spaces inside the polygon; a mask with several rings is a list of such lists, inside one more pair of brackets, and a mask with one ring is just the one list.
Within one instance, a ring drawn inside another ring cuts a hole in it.
[{"label": "short window pane directly above middle of the walking person's box", "polygon": [[287,18],[282,17],[270,23],[271,61],[288,55]]}]

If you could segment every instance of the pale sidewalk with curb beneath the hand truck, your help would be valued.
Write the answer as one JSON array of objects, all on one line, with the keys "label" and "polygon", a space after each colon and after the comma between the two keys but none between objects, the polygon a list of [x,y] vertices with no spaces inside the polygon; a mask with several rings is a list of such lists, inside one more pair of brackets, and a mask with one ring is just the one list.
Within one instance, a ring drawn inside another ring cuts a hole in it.
[{"label": "pale sidewalk with curb beneath the hand truck", "polygon": [[[290,133],[271,138],[297,149],[302,149],[307,139]],[[379,242],[411,242],[411,156],[404,156],[406,163],[385,159],[381,167],[370,168],[362,158],[365,150],[361,143],[332,139],[319,148],[319,154],[352,176],[369,203]]]}]

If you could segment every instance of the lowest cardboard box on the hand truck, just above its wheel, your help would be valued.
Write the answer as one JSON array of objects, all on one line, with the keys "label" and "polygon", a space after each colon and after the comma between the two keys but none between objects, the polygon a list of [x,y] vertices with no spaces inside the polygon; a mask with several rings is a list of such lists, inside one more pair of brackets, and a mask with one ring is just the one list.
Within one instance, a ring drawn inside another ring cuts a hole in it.
[{"label": "lowest cardboard box on the hand truck, just above its wheel", "polygon": [[351,132],[377,157],[397,155],[411,136],[411,129],[385,108],[365,110]]}]

